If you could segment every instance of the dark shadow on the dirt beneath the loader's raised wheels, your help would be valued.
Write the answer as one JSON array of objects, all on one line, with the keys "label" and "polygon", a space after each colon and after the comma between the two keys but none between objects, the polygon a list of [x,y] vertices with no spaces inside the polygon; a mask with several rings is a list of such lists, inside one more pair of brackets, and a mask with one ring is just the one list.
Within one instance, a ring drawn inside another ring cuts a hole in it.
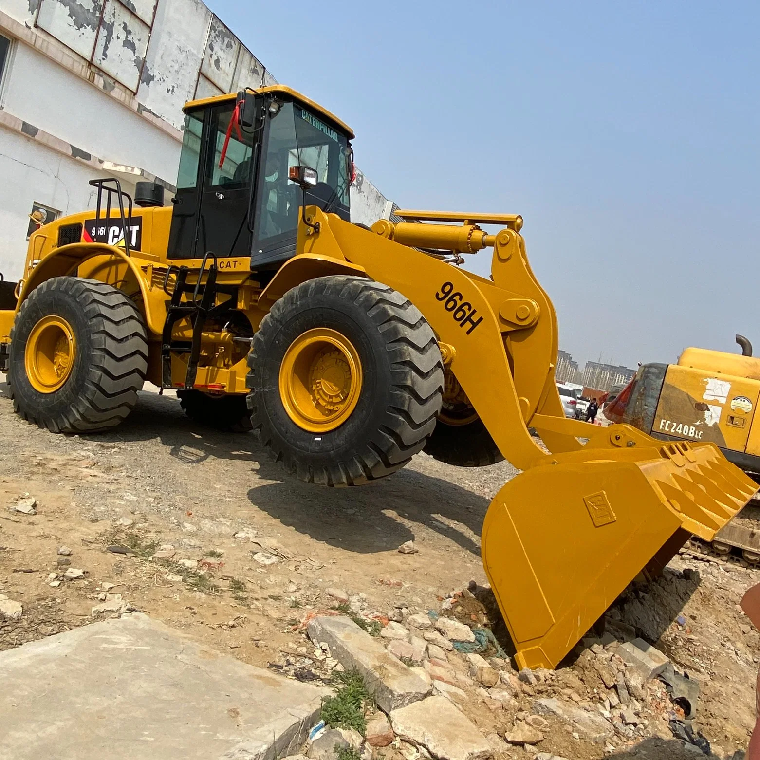
[{"label": "dark shadow on the dirt beneath the loader's raised wheels", "polygon": [[[0,385],[0,394],[9,396],[7,385]],[[141,392],[121,425],[80,439],[98,444],[158,439],[182,464],[239,462],[227,477],[249,478],[253,505],[331,546],[356,553],[385,552],[408,540],[419,542],[414,529],[423,524],[480,558],[480,529],[489,505],[483,496],[410,467],[357,488],[301,483],[271,461],[254,435],[202,426],[185,415],[173,396]]]}]

